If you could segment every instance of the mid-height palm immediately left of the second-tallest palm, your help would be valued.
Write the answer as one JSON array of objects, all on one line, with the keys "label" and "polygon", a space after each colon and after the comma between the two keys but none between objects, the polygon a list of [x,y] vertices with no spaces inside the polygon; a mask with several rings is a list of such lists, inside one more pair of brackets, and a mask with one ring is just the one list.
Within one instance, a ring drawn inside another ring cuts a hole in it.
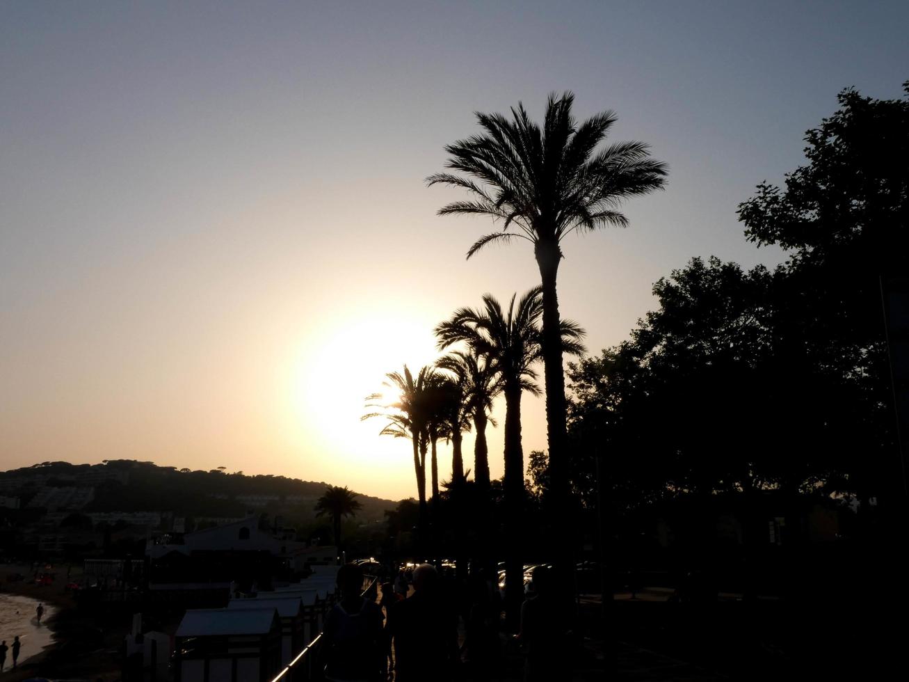
[{"label": "mid-height palm immediately left of the second-tallest palm", "polygon": [[[444,346],[441,341],[440,346]],[[460,350],[439,358],[435,366],[445,369],[455,377],[455,384],[463,396],[460,418],[464,422],[470,419],[474,423],[474,481],[481,491],[488,490],[489,447],[486,445],[486,425],[492,423],[495,426],[495,421],[489,413],[493,409],[493,398],[502,390],[498,374],[493,366],[486,362],[484,356]],[[464,430],[469,428],[464,427]],[[460,437],[456,441],[453,438],[453,460],[459,462],[454,464],[455,469],[464,466],[460,446]],[[454,474],[452,478],[454,481]]]}]

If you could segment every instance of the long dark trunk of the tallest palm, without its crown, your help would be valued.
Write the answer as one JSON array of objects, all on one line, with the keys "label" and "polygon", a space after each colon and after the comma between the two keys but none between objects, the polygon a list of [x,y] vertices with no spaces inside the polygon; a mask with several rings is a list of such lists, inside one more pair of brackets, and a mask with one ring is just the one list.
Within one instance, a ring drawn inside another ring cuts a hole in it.
[{"label": "long dark trunk of the tallest palm, without its crown", "polygon": [[[556,585],[571,587],[574,598],[574,537],[570,514],[568,488],[567,426],[565,422],[565,382],[562,366],[562,330],[559,318],[559,301],[555,290],[562,250],[558,242],[540,240],[534,247],[536,264],[540,268],[543,289],[543,363],[546,387],[546,436],[549,442],[550,509],[554,533],[568,537],[551,537],[564,547],[554,558]],[[567,602],[567,599],[565,600]]]}]

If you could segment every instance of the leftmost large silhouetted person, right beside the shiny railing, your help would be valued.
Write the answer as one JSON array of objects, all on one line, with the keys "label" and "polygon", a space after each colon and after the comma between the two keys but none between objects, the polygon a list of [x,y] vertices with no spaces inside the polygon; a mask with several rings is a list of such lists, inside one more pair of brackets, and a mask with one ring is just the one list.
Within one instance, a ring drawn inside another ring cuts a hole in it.
[{"label": "leftmost large silhouetted person, right beside the shiny railing", "polygon": [[379,682],[385,679],[388,646],[382,608],[361,597],[363,568],[338,569],[340,601],[325,619],[325,679],[331,682]]}]

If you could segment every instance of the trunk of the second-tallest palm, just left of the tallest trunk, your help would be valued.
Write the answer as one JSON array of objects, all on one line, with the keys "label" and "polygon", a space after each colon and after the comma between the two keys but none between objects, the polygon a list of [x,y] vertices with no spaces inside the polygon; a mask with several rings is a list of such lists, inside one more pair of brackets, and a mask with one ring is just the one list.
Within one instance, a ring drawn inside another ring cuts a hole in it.
[{"label": "trunk of the second-tallest palm, just left of the tallest trunk", "polygon": [[505,624],[512,632],[521,625],[524,570],[521,538],[524,510],[524,449],[521,445],[521,386],[505,388]]}]

